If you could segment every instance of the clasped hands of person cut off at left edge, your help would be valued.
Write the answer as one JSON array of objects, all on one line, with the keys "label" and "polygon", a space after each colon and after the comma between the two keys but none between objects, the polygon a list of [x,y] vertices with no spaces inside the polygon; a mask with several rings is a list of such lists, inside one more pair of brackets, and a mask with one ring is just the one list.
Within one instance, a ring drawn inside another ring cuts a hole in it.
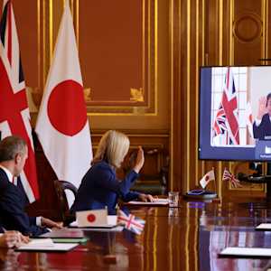
[{"label": "clasped hands of person cut off at left edge", "polygon": [[0,247],[1,248],[19,248],[22,244],[29,242],[29,238],[23,236],[19,231],[11,230],[6,231],[0,237]]}]

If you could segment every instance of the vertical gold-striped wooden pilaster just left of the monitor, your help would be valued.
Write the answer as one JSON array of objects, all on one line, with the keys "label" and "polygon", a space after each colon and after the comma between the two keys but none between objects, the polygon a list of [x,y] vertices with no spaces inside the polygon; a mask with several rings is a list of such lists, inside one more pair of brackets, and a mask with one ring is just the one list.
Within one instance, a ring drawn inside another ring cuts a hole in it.
[{"label": "vertical gold-striped wooden pilaster just left of the monitor", "polygon": [[[205,163],[198,160],[199,68],[205,60],[205,1],[171,2],[172,189],[198,185]],[[178,150],[178,151],[176,151]]]}]

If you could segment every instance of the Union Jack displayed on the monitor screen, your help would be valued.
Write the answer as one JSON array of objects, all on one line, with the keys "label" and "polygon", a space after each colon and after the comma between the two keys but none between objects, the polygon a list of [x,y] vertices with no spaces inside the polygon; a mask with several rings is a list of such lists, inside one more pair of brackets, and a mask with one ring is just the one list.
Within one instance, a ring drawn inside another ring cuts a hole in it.
[{"label": "Union Jack displayed on the monitor screen", "polygon": [[214,136],[227,136],[227,145],[239,145],[238,99],[232,70],[227,68],[220,109],[214,120]]}]

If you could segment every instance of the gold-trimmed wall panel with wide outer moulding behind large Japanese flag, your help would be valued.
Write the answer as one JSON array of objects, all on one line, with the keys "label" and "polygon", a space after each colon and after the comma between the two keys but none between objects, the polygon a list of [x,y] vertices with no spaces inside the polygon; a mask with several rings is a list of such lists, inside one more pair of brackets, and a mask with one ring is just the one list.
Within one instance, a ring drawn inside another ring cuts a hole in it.
[{"label": "gold-trimmed wall panel with wide outer moulding behind large Japanese flag", "polygon": [[[64,2],[38,1],[41,6],[43,85],[50,67]],[[91,127],[168,128],[167,2],[141,0],[130,3],[122,0],[117,3],[96,3],[70,0],[70,8]],[[42,89],[39,90],[39,97],[35,97],[37,107],[41,98]],[[135,120],[133,125],[126,122],[126,117],[130,116]],[[108,125],[108,118],[111,125]]]}]

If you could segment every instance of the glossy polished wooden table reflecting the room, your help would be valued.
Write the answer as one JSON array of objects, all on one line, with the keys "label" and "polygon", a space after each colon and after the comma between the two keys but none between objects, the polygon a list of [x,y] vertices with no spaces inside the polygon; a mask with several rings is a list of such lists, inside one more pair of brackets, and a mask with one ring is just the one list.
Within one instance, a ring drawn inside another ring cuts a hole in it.
[{"label": "glossy polished wooden table reflecting the room", "polygon": [[271,222],[271,206],[245,200],[133,207],[146,220],[142,235],[86,232],[88,243],[68,253],[1,250],[0,270],[267,270],[271,258],[218,257],[227,246],[271,248],[271,232],[254,230]]}]

